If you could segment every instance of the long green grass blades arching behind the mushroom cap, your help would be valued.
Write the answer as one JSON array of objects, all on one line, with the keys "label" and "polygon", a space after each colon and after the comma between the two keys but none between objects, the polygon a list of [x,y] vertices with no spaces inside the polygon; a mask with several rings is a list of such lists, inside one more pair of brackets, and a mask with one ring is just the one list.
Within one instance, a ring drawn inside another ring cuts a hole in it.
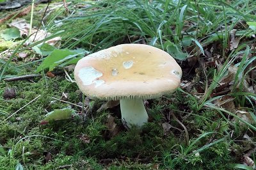
[{"label": "long green grass blades arching behind the mushroom cap", "polygon": [[[223,1],[77,1],[70,6],[74,13],[58,20],[58,26],[52,20],[49,30],[65,30],[63,46],[86,45],[92,52],[118,43],[140,41],[166,50],[164,43],[170,41],[179,47],[200,47],[201,53],[205,45],[216,40],[223,41],[223,47],[227,47],[230,30],[237,22],[256,19],[249,3],[255,4],[250,1],[236,1],[232,5]],[[77,4],[84,7],[76,8]]]}]

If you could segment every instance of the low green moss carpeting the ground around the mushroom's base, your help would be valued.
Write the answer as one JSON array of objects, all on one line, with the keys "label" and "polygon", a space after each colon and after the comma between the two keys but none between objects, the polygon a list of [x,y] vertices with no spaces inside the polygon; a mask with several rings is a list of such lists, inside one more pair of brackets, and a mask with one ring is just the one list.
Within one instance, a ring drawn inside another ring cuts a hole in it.
[{"label": "low green moss carpeting the ground around the mushroom's base", "polygon": [[[23,75],[33,73],[35,68],[12,67],[8,73]],[[241,145],[234,143],[229,137],[223,138],[230,129],[216,111],[205,110],[190,116],[180,113],[180,109],[189,108],[189,98],[176,93],[149,100],[147,109],[150,121],[142,130],[126,130],[120,121],[120,112],[115,109],[100,113],[93,110],[92,115],[87,116],[85,121],[74,118],[40,125],[47,111],[72,106],[60,101],[52,102],[52,97],[61,98],[64,92],[68,93],[68,102],[77,104],[82,100],[77,93],[76,84],[68,82],[64,75],[36,78],[32,82],[1,82],[0,87],[0,96],[3,96],[6,88],[17,91],[15,98],[1,99],[0,109],[6,113],[0,117],[0,143],[3,146],[0,155],[1,169],[14,169],[18,162],[27,169],[58,169],[61,166],[69,169],[231,169],[232,163],[240,158],[234,154],[233,147],[243,150]],[[35,102],[6,120],[8,115],[38,95],[41,96]],[[181,105],[182,102],[185,105]],[[100,104],[102,102],[97,104],[96,109]],[[78,107],[73,109],[77,113],[81,112]],[[188,116],[183,123],[189,132],[189,144],[186,144],[182,126],[172,116],[169,120],[170,111],[179,120]],[[120,127],[119,134],[112,138],[109,138],[110,132],[106,127],[108,114],[115,116],[115,122]],[[166,122],[173,126],[168,132],[164,132],[162,127],[162,123]],[[205,135],[191,146],[193,140],[207,132],[218,134]],[[81,139],[83,135],[90,141],[84,143]],[[221,138],[223,141],[206,148],[200,154],[192,153],[205,146],[205,143],[209,144]],[[49,160],[45,157],[47,153],[51,154]]]}]

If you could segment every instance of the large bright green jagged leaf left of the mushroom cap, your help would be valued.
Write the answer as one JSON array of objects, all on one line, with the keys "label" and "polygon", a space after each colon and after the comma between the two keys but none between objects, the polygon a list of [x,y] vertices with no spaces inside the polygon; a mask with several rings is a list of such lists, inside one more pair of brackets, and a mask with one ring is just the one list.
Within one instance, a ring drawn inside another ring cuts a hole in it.
[{"label": "large bright green jagged leaf left of the mushroom cap", "polygon": [[54,49],[49,56],[47,56],[42,64],[38,66],[36,72],[41,72],[45,68],[49,68],[49,71],[53,70],[54,67],[60,65],[60,63],[56,63],[56,61],[60,61],[61,59],[67,57],[68,55],[75,54],[75,52],[71,52],[68,49]]}]

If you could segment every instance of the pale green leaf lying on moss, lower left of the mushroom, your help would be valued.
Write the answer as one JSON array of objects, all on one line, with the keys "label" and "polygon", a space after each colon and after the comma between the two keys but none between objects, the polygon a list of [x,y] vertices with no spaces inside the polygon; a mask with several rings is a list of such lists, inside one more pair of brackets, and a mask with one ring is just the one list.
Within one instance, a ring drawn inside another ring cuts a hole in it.
[{"label": "pale green leaf lying on moss, lower left of the mushroom", "polygon": [[56,120],[68,120],[72,118],[72,114],[74,114],[74,110],[70,108],[63,108],[63,109],[55,109],[47,113],[44,120],[41,121],[41,125],[47,124],[49,121],[56,121]]}]

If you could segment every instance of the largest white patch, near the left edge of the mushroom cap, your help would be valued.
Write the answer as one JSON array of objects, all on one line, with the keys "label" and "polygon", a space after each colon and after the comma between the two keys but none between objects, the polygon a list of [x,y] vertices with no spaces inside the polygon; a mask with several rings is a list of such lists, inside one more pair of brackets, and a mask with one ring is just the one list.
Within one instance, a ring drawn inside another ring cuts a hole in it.
[{"label": "largest white patch, near the left edge of the mushroom cap", "polygon": [[96,82],[97,86],[97,81],[99,81],[99,79],[97,78],[101,77],[102,75],[102,72],[95,70],[95,68],[93,68],[92,66],[81,68],[78,73],[78,76],[84,85],[90,85]]}]

